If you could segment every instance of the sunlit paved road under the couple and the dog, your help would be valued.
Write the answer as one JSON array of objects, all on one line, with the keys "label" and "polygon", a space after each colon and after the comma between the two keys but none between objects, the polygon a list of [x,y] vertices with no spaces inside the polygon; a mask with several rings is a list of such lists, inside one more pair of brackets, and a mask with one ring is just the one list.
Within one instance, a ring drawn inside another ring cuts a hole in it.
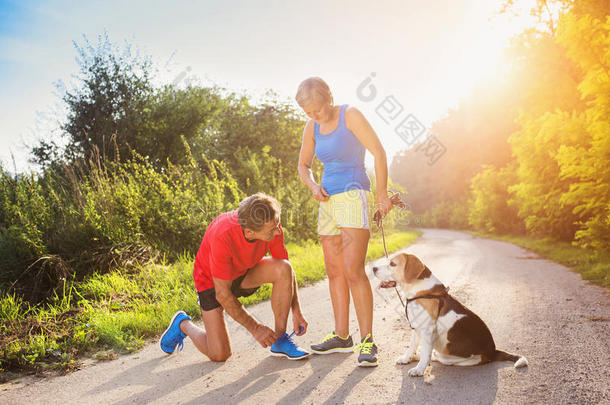
[{"label": "sunlit paved road under the couple and the dog", "polygon": [[[358,368],[355,354],[299,362],[273,358],[229,322],[234,355],[224,364],[206,361],[188,339],[172,356],[151,344],[70,375],[1,385],[0,403],[610,403],[607,290],[509,243],[423,231],[405,250],[486,321],[499,348],[525,355],[529,367],[432,363],[426,381],[409,377],[410,366],[397,366],[394,359],[411,332],[394,291],[375,289],[374,330],[381,352],[374,369]],[[372,283],[377,285],[375,279]],[[332,328],[327,289],[324,281],[300,290],[310,323],[298,340],[304,347]],[[250,310],[271,320],[268,302]],[[354,314],[352,333],[358,336]]]}]

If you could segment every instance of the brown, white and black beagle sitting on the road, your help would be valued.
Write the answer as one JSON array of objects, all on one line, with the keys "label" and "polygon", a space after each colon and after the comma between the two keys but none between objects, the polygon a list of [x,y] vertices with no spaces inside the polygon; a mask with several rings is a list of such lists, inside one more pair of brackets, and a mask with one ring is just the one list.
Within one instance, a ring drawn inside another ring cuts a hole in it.
[{"label": "brown, white and black beagle sitting on the road", "polygon": [[409,370],[410,376],[424,374],[430,360],[454,366],[474,366],[491,361],[511,361],[515,368],[527,366],[523,356],[496,349],[487,325],[474,312],[448,294],[441,281],[417,256],[401,253],[388,265],[373,267],[381,280],[380,287],[400,284],[406,294],[406,315],[413,333],[405,354],[397,364],[419,362]]}]

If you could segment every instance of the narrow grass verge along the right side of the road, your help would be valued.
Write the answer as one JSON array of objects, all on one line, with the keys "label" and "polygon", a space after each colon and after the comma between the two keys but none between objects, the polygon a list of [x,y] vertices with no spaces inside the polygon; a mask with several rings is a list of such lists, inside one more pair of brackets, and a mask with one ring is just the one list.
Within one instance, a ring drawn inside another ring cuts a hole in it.
[{"label": "narrow grass verge along the right side of the road", "polygon": [[579,273],[584,280],[593,284],[610,288],[610,252],[599,252],[573,246],[569,242],[561,242],[549,238],[531,236],[493,235],[488,233],[468,231],[473,235],[502,240],[530,249],[547,259],[570,267]]}]

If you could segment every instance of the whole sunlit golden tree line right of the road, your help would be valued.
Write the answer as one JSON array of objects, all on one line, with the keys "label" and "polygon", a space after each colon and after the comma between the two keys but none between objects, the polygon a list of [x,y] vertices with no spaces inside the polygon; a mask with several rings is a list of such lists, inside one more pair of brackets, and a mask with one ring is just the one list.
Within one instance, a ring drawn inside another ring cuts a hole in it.
[{"label": "whole sunlit golden tree line right of the road", "polygon": [[610,3],[530,12],[540,24],[513,38],[504,79],[433,125],[447,153],[428,167],[405,151],[392,176],[429,225],[462,227],[467,211],[474,230],[610,250]]}]

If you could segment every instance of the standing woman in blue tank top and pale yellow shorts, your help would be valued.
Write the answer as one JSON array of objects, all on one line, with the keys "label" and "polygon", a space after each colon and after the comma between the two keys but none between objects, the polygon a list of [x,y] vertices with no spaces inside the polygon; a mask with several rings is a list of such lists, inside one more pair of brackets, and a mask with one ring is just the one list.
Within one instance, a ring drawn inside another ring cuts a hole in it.
[{"label": "standing woman in blue tank top and pale yellow shorts", "polygon": [[[387,195],[385,150],[359,110],[346,104],[334,105],[330,88],[321,78],[304,80],[296,101],[310,118],[303,131],[298,170],[301,180],[320,201],[318,233],[335,317],[335,330],[311,350],[318,354],[352,351],[351,293],[361,337],[358,364],[376,366],[373,292],[364,270],[370,237],[366,192],[371,190],[364,154],[366,148],[375,158],[377,208],[385,216],[392,208]],[[314,153],[324,164],[321,184],[311,173]]]}]

